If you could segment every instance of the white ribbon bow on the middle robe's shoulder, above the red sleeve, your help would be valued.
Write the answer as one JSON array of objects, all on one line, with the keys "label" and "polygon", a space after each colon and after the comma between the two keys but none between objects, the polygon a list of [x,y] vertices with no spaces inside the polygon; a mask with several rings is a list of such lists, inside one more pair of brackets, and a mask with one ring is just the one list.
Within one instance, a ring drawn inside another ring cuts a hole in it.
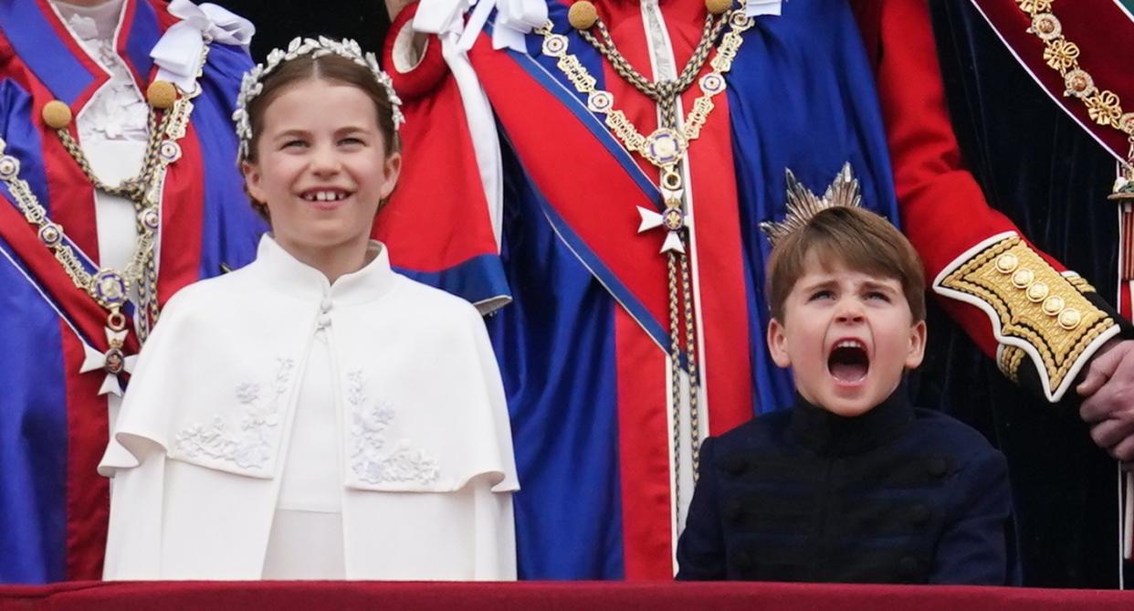
[{"label": "white ribbon bow on the middle robe's shoulder, above the red sleeve", "polygon": [[[464,23],[464,15],[473,3],[476,8],[468,16],[468,23]],[[548,20],[548,5],[543,0],[421,0],[414,16],[414,29],[431,34],[458,32],[457,48],[468,51],[484,29],[493,8],[497,9],[497,18],[492,48],[526,53],[524,35]]]}]

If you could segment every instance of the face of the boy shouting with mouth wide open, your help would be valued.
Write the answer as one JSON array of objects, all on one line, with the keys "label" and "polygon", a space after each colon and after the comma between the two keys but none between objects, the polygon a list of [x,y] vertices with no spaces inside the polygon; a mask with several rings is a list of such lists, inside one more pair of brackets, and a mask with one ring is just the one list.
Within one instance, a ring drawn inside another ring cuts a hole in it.
[{"label": "face of the boy shouting with mouth wide open", "polygon": [[913,314],[894,278],[877,278],[807,256],[804,274],[784,304],[784,321],[768,326],[768,347],[790,366],[807,401],[840,416],[858,416],[921,364],[925,322]]}]

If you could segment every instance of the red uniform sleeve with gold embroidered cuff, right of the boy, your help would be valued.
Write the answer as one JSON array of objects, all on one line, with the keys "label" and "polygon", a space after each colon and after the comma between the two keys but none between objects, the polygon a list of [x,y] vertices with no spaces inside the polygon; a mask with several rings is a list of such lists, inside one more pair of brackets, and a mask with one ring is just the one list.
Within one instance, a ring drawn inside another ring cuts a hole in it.
[{"label": "red uniform sleeve with gold embroidered cuff, right of the boy", "polygon": [[[1033,370],[1026,379],[1058,399],[1118,332],[1116,321],[1093,289],[1068,279],[989,206],[965,168],[926,1],[861,0],[855,11],[874,63],[903,229],[931,289],[1006,374],[1023,382]],[[1025,360],[1034,367],[1021,367]]]}]

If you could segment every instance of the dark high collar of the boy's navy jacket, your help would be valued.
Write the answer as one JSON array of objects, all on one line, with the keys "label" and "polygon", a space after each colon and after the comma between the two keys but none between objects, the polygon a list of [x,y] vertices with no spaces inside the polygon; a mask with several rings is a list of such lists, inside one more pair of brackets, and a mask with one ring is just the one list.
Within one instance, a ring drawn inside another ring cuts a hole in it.
[{"label": "dark high collar of the boy's navy jacket", "polygon": [[913,417],[914,408],[902,383],[885,401],[855,417],[832,414],[796,394],[790,430],[797,442],[816,453],[846,456],[889,443]]}]

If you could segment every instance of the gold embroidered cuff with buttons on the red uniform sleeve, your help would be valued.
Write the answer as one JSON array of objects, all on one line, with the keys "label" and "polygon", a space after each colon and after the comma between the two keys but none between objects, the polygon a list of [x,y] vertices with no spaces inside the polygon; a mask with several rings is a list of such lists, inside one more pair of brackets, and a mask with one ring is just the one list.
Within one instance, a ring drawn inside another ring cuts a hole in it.
[{"label": "gold embroidered cuff with buttons on the red uniform sleeve", "polygon": [[[1005,238],[963,263],[941,287],[972,295],[990,305],[1005,337],[1035,348],[1050,390],[1058,389],[1088,346],[1115,325],[1019,237]],[[1014,376],[1019,363],[1007,349],[1000,367]],[[1006,368],[1007,367],[1007,368]]]}]

